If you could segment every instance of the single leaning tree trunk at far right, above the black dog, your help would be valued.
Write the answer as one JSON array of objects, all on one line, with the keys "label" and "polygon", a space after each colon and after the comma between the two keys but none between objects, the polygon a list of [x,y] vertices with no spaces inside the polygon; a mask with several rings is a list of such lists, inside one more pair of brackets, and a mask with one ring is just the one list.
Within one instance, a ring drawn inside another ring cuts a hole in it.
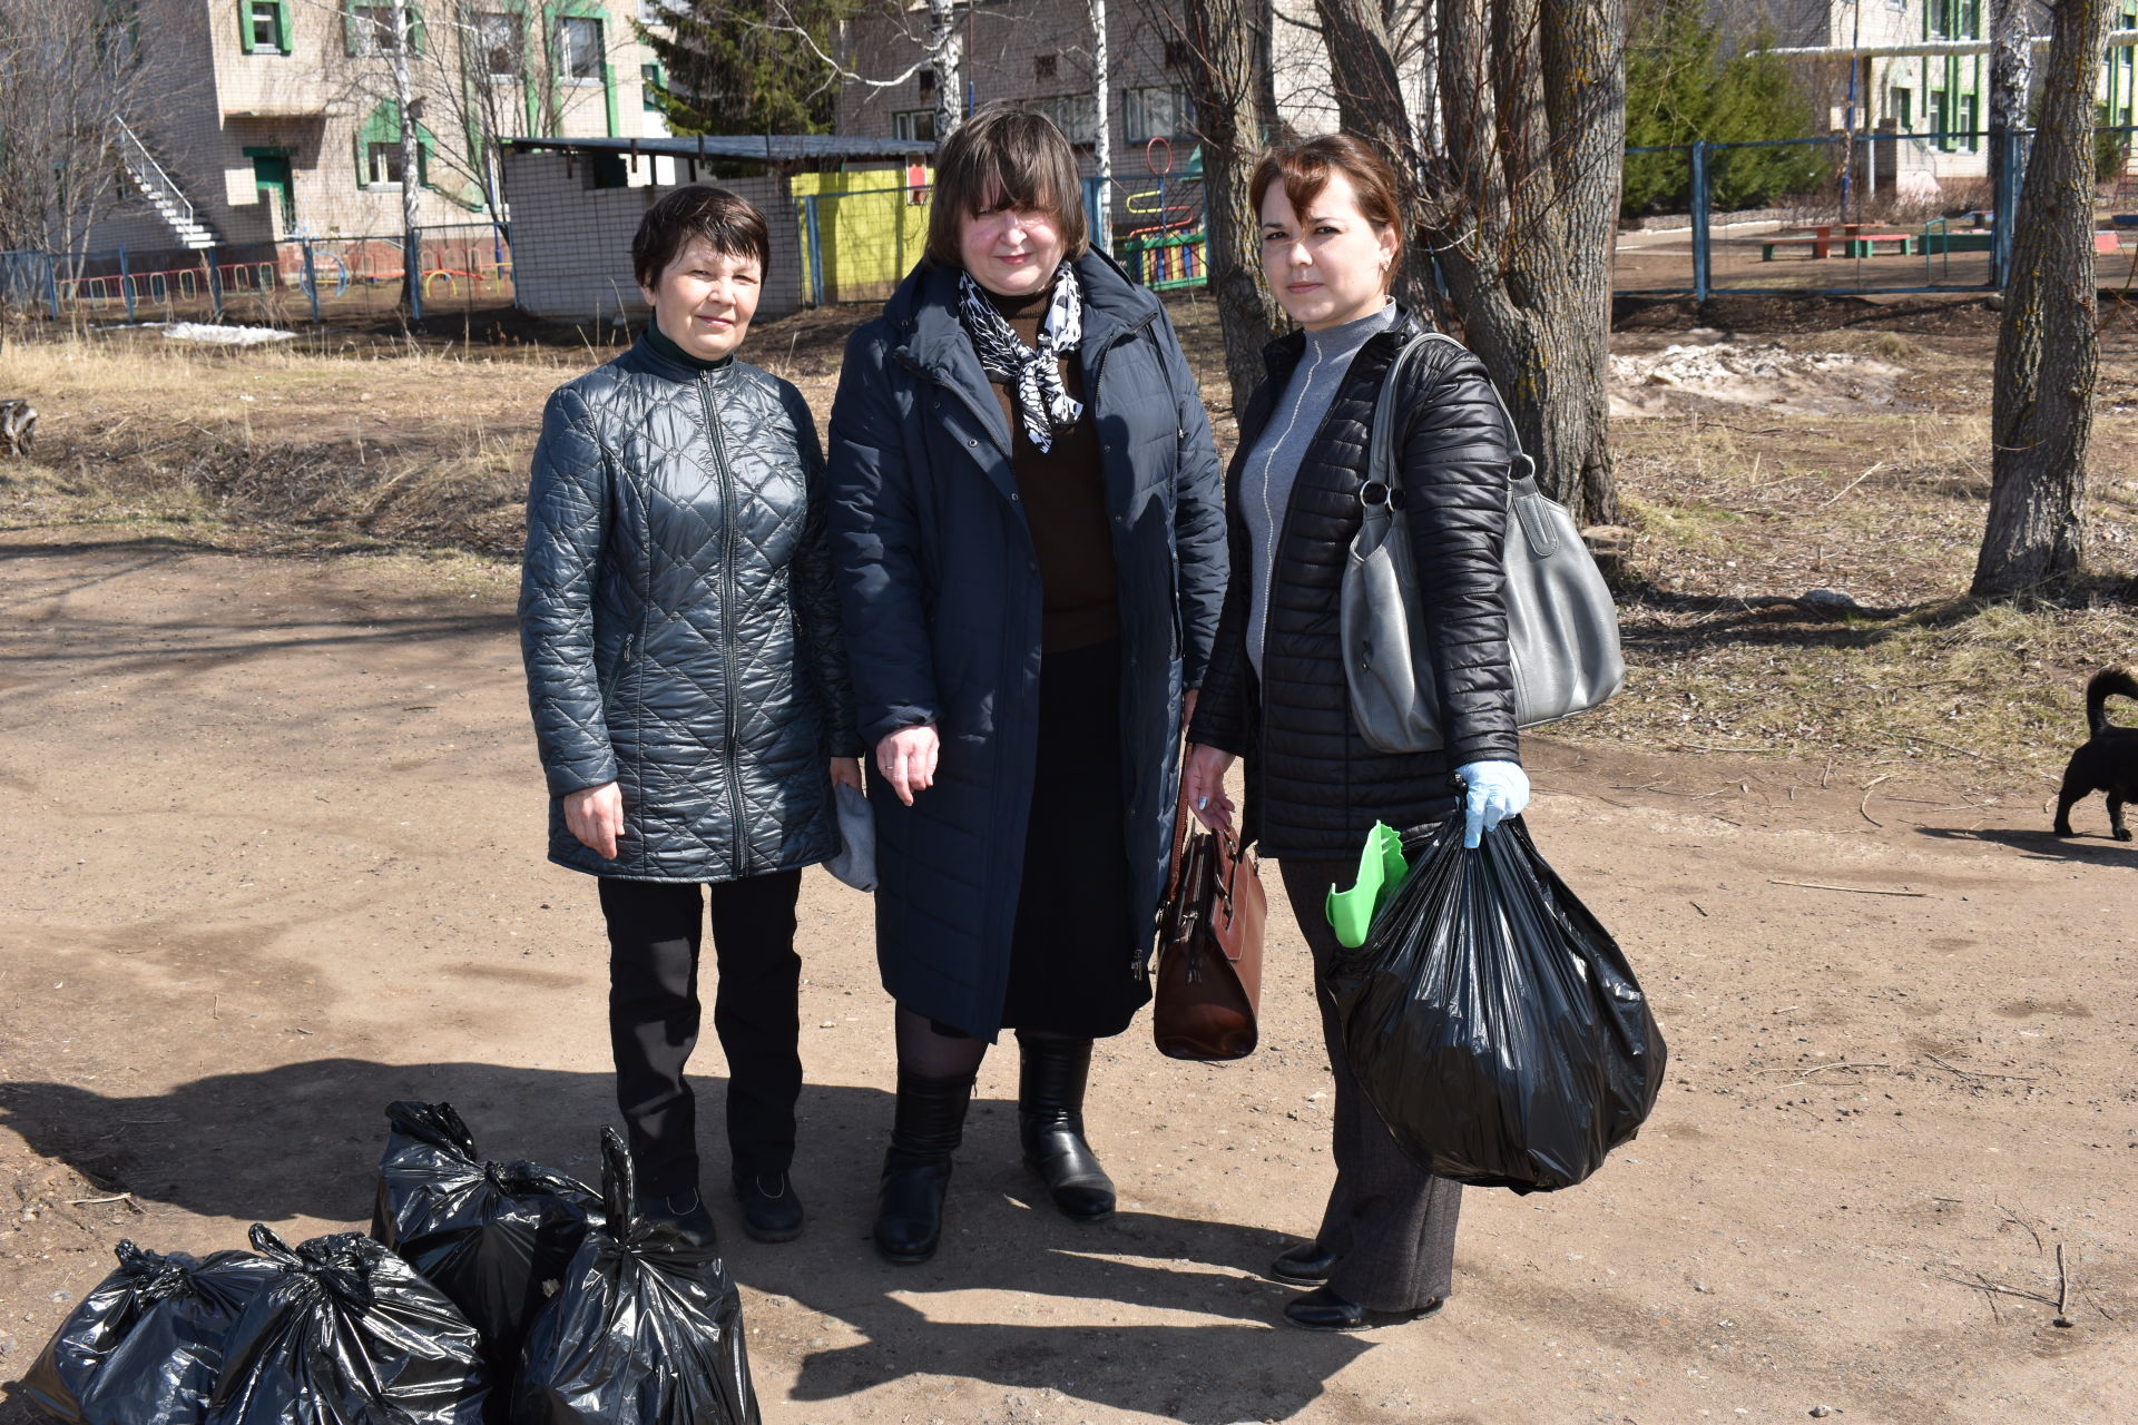
[{"label": "single leaning tree trunk at far right, above the black dog", "polygon": [[1973,594],[2005,598],[2078,573],[2100,367],[2093,271],[2093,90],[2108,0],[2057,0],[2042,122],[2012,222],[2012,276],[1990,395],[1990,513]]}]

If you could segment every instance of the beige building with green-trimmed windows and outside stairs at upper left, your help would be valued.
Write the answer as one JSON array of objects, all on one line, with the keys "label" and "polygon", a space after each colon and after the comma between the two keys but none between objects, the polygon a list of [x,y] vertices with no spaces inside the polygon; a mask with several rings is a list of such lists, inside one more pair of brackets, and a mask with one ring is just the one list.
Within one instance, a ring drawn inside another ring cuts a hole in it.
[{"label": "beige building with green-trimmed windows and outside stairs at upper left", "polygon": [[496,139],[665,135],[644,4],[139,0],[156,103],[118,115],[122,203],[92,248],[207,248],[402,229],[404,60],[421,224],[502,212]]}]

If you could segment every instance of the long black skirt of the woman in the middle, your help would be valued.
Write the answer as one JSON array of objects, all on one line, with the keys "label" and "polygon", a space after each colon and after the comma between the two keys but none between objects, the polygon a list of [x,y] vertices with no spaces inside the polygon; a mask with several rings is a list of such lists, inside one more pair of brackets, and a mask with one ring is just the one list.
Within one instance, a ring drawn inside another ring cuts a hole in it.
[{"label": "long black skirt of the woman in the middle", "polygon": [[1107,639],[1039,660],[1039,767],[1003,1028],[1075,1038],[1127,1030],[1150,1000],[1135,925],[1120,639]]}]

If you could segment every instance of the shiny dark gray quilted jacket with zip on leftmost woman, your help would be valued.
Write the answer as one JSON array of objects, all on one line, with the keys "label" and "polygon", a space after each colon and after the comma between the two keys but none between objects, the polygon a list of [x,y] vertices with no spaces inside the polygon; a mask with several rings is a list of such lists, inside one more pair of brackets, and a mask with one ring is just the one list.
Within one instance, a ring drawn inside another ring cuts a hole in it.
[{"label": "shiny dark gray quilted jacket with zip on leftmost woman", "polygon": [[[838,852],[827,763],[859,754],[802,393],[644,340],[558,387],[528,487],[520,647],[549,859],[735,880]],[[603,861],[564,793],[620,782]]]}]

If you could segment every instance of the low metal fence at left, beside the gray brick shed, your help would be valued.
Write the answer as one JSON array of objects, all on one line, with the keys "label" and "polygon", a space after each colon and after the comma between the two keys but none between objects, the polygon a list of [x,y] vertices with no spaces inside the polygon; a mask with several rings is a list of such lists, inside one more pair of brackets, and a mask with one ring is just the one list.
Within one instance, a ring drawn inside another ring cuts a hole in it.
[{"label": "low metal fence at left, beside the gray brick shed", "polygon": [[105,323],[372,320],[400,310],[410,267],[417,320],[513,301],[507,229],[466,222],[383,237],[289,237],[201,250],[0,252],[0,306],[53,320]]}]

